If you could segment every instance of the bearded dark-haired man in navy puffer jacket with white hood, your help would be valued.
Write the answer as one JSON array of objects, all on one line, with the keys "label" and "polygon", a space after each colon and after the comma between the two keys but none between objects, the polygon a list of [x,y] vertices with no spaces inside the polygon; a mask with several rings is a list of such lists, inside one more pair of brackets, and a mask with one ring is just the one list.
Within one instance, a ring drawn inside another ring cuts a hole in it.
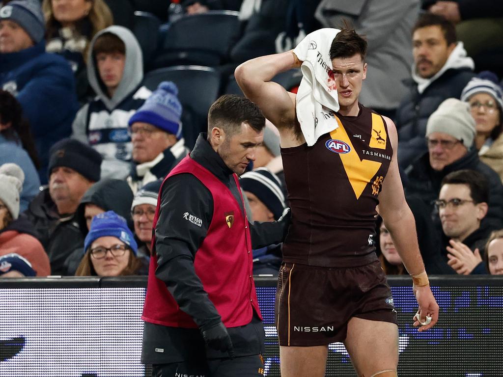
[{"label": "bearded dark-haired man in navy puffer jacket with white hood", "polygon": [[398,163],[405,168],[427,151],[426,123],[448,98],[459,98],[474,76],[473,60],[457,42],[454,25],[441,16],[425,14],[412,29],[412,79],[409,93],[396,112]]}]

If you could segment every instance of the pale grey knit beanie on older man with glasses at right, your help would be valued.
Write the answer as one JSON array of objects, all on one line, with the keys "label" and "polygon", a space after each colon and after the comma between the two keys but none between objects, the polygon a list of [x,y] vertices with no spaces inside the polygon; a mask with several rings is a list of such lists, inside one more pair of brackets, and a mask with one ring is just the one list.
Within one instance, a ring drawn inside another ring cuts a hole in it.
[{"label": "pale grey knit beanie on older man with glasses at right", "polygon": [[471,116],[470,106],[456,98],[448,98],[430,115],[426,124],[426,136],[433,132],[442,132],[461,140],[470,149],[475,137],[475,120]]}]

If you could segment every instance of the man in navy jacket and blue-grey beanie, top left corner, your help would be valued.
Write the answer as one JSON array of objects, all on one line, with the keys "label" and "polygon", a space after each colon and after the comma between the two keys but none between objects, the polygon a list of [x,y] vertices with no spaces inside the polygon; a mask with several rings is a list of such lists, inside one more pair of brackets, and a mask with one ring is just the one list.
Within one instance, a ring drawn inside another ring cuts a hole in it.
[{"label": "man in navy jacket and blue-grey beanie, top left corner", "polygon": [[45,52],[44,28],[38,0],[14,0],[0,8],[0,88],[16,96],[30,121],[42,183],[49,149],[70,136],[78,110],[73,72],[64,58]]}]

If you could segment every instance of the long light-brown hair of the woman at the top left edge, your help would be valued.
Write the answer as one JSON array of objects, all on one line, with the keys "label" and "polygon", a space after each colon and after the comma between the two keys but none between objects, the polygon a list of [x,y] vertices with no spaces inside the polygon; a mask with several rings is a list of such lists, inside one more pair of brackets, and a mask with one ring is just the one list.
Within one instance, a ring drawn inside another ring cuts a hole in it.
[{"label": "long light-brown hair of the woman at the top left edge", "polygon": [[[86,1],[93,3],[89,14],[86,16],[92,27],[91,35],[88,36],[89,40],[91,40],[100,30],[113,25],[114,19],[110,8],[108,8],[108,5],[103,0]],[[45,29],[47,31],[46,35],[47,37],[51,38],[57,35],[57,30],[61,27],[61,24],[54,18],[54,14],[52,13],[51,0],[43,1],[42,10],[44,11],[44,17],[47,20],[45,22]]]}]

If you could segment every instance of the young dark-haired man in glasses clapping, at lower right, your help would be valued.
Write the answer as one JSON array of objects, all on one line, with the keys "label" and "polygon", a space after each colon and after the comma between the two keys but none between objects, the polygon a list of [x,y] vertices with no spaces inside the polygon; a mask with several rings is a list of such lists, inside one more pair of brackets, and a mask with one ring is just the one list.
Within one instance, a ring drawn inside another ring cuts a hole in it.
[{"label": "young dark-haired man in glasses clapping, at lower right", "polygon": [[458,170],[442,180],[435,201],[443,230],[441,254],[458,274],[487,273],[482,256],[494,230],[484,221],[488,198],[487,179],[478,171]]}]

